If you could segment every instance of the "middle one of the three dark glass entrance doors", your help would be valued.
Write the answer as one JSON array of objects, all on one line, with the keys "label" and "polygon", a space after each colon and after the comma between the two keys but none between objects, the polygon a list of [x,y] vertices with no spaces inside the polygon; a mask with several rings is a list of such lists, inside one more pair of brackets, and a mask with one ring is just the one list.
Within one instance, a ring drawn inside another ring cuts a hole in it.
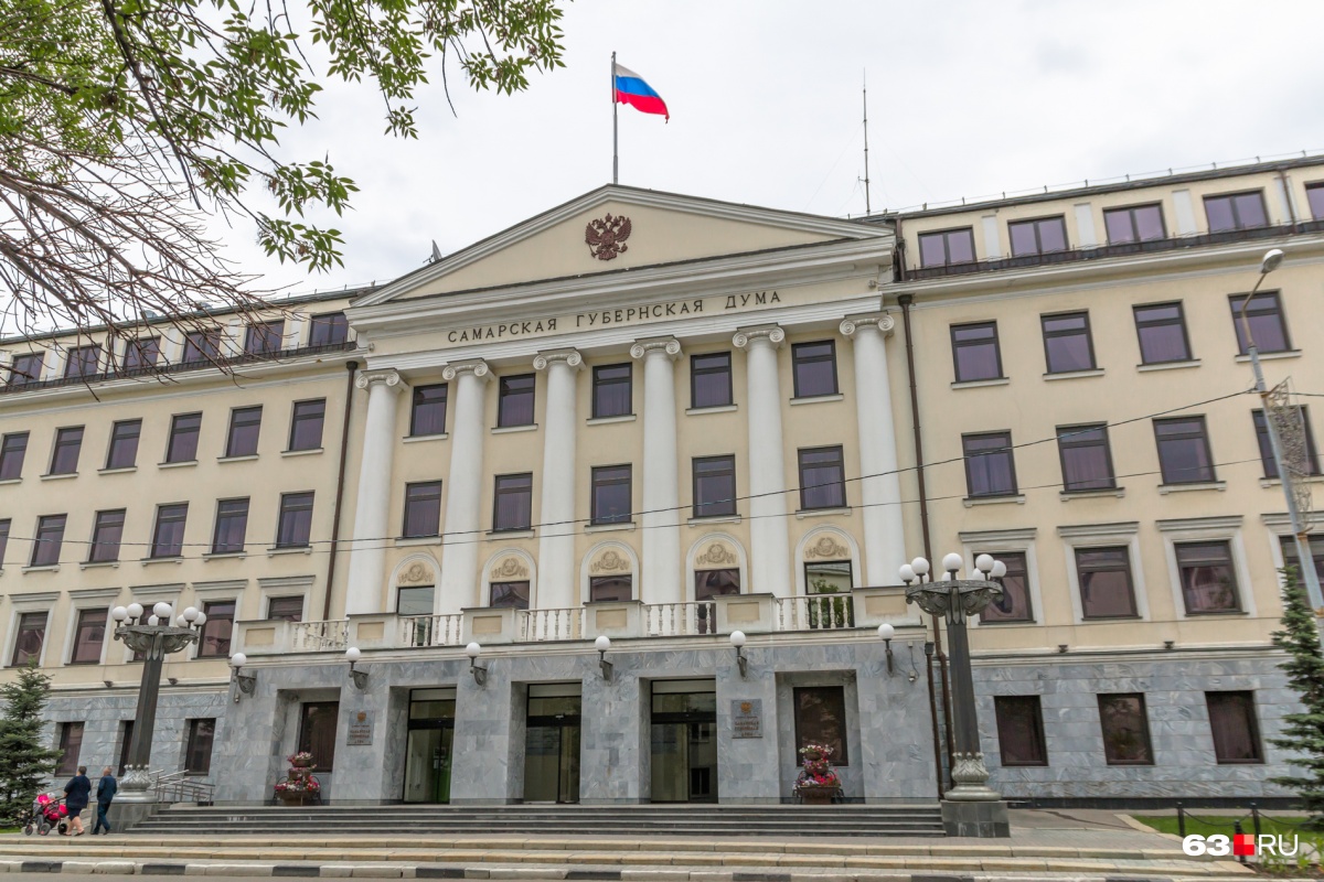
[{"label": "middle one of the three dark glass entrance doors", "polygon": [[524,801],[577,803],[580,684],[532,684],[524,737]]}]

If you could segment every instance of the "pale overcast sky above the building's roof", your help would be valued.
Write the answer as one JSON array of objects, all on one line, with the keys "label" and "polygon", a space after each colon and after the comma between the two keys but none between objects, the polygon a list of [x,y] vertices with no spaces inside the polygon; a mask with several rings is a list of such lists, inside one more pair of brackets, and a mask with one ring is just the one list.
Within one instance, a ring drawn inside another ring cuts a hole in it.
[{"label": "pale overcast sky above the building's roof", "polygon": [[[576,0],[565,67],[514,97],[440,71],[420,138],[383,134],[367,85],[330,82],[286,159],[360,192],[344,266],[226,257],[287,294],[409,272],[612,180],[610,56],[671,120],[620,108],[621,184],[834,217],[1324,149],[1319,0]],[[260,204],[260,202],[258,202]]]}]

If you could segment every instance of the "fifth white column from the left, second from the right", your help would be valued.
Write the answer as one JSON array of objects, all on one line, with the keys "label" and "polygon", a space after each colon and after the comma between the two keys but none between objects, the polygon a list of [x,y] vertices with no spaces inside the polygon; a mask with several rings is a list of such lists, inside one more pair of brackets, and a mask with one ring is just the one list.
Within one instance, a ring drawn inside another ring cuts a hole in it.
[{"label": "fifth white column from the left, second from the right", "polygon": [[781,455],[781,387],[777,349],[786,332],[777,325],[741,328],[732,339],[745,350],[745,413],[749,414],[749,584],[744,591],[789,598],[786,467]]}]

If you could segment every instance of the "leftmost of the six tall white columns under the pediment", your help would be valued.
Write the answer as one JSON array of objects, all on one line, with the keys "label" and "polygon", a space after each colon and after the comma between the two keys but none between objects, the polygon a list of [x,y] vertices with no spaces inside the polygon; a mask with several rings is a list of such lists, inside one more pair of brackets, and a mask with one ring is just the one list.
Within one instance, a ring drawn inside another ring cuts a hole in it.
[{"label": "leftmost of the six tall white columns under the pediment", "polygon": [[[350,581],[344,611],[381,612],[385,607],[387,537],[391,508],[391,461],[396,452],[396,406],[406,389],[392,369],[364,370],[354,385],[368,390],[368,415],[363,427],[363,461],[354,506],[354,541],[350,545]],[[327,586],[330,591],[334,586]]]}]

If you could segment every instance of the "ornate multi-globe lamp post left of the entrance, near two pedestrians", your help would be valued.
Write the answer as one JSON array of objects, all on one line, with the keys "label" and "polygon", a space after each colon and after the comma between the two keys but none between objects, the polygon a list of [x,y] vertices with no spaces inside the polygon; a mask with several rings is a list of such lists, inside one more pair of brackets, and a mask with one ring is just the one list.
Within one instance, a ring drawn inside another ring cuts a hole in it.
[{"label": "ornate multi-globe lamp post left of the entrance, near two pedestrians", "polygon": [[207,614],[188,607],[171,621],[173,610],[168,603],[158,603],[152,614],[144,619],[146,610],[140,603],[115,607],[110,618],[118,621],[115,640],[143,656],[143,678],[138,686],[138,706],[134,711],[134,738],[128,743],[128,762],[124,764],[124,778],[119,782],[117,803],[154,803],[148,764],[152,758],[152,733],[156,729],[156,697],[162,686],[162,664],[172,652],[179,652],[191,643],[197,643],[199,633],[207,624]]}]

